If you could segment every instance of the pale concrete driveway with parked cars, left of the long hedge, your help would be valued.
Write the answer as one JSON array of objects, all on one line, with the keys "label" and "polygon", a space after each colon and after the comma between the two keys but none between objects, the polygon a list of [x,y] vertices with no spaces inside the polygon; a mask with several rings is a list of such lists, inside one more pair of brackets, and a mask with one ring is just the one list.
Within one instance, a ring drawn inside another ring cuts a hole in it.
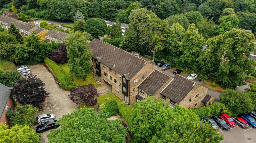
[{"label": "pale concrete driveway with parked cars, left of the long hedge", "polygon": [[[30,65],[29,69],[31,70],[33,75],[36,75],[39,79],[41,79],[45,86],[47,92],[49,92],[49,97],[46,98],[45,102],[41,103],[38,106],[39,113],[41,114],[55,114],[56,119],[62,118],[63,115],[71,113],[74,109],[77,110],[78,106],[75,105],[67,95],[70,93],[69,91],[63,90],[56,84],[53,75],[48,71],[46,65],[36,64]],[[38,124],[35,124],[36,126]],[[48,142],[46,134],[50,132],[43,132],[41,135],[41,142]]]}]

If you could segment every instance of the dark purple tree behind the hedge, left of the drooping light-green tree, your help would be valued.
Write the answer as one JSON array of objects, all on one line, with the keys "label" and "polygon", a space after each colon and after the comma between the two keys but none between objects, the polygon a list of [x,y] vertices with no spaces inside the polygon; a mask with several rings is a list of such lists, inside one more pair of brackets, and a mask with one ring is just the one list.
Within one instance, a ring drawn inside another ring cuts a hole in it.
[{"label": "dark purple tree behind the hedge, left of the drooping light-green tree", "polygon": [[51,51],[50,59],[57,62],[57,63],[65,63],[67,62],[67,45],[65,44],[59,44],[58,50]]}]

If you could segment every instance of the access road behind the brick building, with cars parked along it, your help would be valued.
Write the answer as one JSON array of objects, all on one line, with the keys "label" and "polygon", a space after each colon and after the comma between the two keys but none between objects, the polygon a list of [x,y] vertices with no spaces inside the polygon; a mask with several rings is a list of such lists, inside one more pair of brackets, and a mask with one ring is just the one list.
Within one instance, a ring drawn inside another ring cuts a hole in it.
[{"label": "access road behind the brick building, with cars parked along it", "polygon": [[[171,77],[174,77],[175,76],[175,74],[173,74],[173,71],[174,71],[175,69],[174,68],[171,68],[171,69],[167,69],[167,70],[165,70],[165,71],[163,71],[164,73],[166,73],[166,74],[168,74],[168,75],[170,75]],[[180,73],[179,74],[180,76],[182,76],[182,77],[188,77],[189,76],[189,74],[186,74],[186,73]],[[202,85],[202,86],[204,86],[205,87],[205,84],[204,84],[204,80],[202,80],[201,82],[198,82],[198,79],[194,79],[193,80],[194,82],[197,82],[198,84],[200,84],[200,85]],[[212,97],[214,97],[215,98],[215,100],[214,101],[219,101],[219,96],[220,96],[220,92],[216,92],[216,91],[214,91],[214,90],[212,90],[212,89],[208,89],[208,92],[207,92],[207,94],[209,94],[209,95],[211,95]]]}]

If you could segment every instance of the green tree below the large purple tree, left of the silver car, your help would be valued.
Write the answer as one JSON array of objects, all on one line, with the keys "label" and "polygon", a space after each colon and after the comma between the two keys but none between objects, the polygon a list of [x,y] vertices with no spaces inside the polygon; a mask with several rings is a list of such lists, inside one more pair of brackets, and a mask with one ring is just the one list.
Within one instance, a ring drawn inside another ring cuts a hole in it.
[{"label": "green tree below the large purple tree, left of the silver car", "polygon": [[36,122],[38,109],[32,105],[17,106],[15,110],[8,111],[7,115],[11,118],[13,124],[30,125]]}]

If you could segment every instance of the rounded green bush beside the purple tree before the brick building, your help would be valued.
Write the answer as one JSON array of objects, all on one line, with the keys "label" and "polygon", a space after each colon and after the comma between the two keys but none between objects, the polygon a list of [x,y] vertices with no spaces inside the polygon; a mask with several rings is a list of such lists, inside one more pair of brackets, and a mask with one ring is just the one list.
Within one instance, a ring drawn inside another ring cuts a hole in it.
[{"label": "rounded green bush beside the purple tree before the brick building", "polygon": [[107,103],[101,108],[103,112],[109,113],[109,117],[118,115],[118,107],[115,99],[107,100]]}]

